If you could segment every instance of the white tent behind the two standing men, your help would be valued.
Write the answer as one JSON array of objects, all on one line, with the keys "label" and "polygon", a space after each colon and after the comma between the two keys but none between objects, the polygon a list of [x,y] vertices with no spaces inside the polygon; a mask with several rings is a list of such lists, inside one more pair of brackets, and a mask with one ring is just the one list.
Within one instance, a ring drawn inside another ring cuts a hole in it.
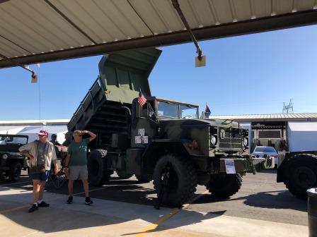
[{"label": "white tent behind the two standing men", "polygon": [[21,130],[18,134],[28,135],[28,142],[33,142],[38,139],[38,132],[42,129],[47,130],[49,133],[49,140],[51,140],[51,135],[57,135],[57,141],[62,144],[65,140],[64,133],[67,133],[66,125],[55,125],[55,126],[28,126]]}]

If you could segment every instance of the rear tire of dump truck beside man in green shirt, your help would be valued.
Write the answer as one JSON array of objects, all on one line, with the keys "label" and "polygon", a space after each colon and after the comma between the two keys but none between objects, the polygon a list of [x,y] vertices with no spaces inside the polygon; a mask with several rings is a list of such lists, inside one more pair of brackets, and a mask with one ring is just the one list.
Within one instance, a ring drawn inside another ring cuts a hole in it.
[{"label": "rear tire of dump truck beside man in green shirt", "polygon": [[98,149],[92,150],[88,158],[89,183],[93,186],[103,186],[110,179],[113,171],[107,169],[107,151]]}]

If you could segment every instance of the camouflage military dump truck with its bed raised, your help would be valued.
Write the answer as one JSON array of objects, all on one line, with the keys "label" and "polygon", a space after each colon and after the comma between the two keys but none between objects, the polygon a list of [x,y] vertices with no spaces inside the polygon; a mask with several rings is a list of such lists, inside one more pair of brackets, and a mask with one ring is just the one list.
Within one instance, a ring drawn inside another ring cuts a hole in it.
[{"label": "camouflage military dump truck with its bed raised", "polygon": [[197,184],[229,197],[238,192],[241,177],[254,172],[254,164],[274,166],[272,159],[242,155],[248,131],[238,123],[199,119],[197,104],[152,96],[148,77],[160,54],[140,49],[100,60],[100,74],[68,124],[70,131],[98,135],[88,147],[92,185],[102,186],[114,171],[122,178],[153,179],[163,203],[182,205],[195,195]]}]

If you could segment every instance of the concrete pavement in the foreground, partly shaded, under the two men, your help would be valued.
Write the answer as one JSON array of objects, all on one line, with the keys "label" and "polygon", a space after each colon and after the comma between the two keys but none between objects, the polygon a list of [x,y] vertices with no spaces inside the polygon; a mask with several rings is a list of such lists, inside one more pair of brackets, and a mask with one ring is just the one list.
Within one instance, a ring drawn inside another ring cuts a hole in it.
[{"label": "concrete pavement in the foreground, partly shaded, under the two men", "polygon": [[67,205],[67,195],[55,193],[45,199],[51,207],[29,214],[30,190],[0,187],[1,236],[308,236],[307,226],[197,212],[191,205],[158,211],[101,199],[86,206],[83,197]]}]

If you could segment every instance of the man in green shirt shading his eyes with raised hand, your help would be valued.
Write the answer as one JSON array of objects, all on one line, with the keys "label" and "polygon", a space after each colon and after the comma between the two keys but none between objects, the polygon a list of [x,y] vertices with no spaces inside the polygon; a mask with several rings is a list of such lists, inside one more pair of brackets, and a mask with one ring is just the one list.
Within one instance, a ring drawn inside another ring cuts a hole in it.
[{"label": "man in green shirt shading his eyes with raised hand", "polygon": [[[88,133],[90,138],[83,139],[83,134]],[[68,204],[73,203],[73,186],[74,180],[81,179],[83,182],[83,190],[85,191],[85,204],[91,205],[93,201],[89,197],[88,187],[88,168],[87,168],[87,147],[88,143],[96,138],[96,134],[88,130],[75,130],[73,133],[74,141],[68,147],[68,154],[65,160],[65,173],[69,178],[68,190],[69,197]]]}]

